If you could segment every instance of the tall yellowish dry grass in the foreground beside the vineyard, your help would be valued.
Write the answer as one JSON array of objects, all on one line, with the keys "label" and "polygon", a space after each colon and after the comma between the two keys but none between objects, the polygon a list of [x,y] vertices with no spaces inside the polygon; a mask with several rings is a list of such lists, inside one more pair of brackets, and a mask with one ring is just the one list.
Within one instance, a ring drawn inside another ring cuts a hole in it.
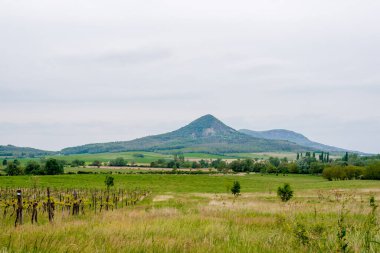
[{"label": "tall yellowish dry grass in the foreground beside the vineyard", "polygon": [[[274,193],[157,195],[97,215],[57,213],[54,224],[1,224],[0,252],[331,252],[343,202],[349,247],[361,252],[370,194],[380,199],[373,189],[302,191],[289,203]],[[295,236],[296,224],[305,226],[308,244]]]}]

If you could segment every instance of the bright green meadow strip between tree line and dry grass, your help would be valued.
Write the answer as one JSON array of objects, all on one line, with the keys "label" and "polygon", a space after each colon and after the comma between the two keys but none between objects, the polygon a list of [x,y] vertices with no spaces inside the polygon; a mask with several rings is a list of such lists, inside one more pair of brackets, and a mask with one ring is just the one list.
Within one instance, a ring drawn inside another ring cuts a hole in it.
[{"label": "bright green meadow strip between tree line and dry grass", "polygon": [[[82,169],[81,169],[82,170]],[[102,169],[103,170],[103,169]],[[118,171],[109,169],[107,171]],[[165,192],[197,192],[197,193],[226,193],[226,188],[238,180],[242,185],[242,192],[275,192],[283,183],[289,183],[296,190],[319,189],[379,189],[379,181],[347,180],[327,181],[320,176],[313,175],[262,175],[262,174],[113,174],[115,187],[149,188],[154,193]],[[101,188],[104,187],[106,175],[102,174],[65,174],[56,176],[2,176],[0,187],[28,187],[37,180],[41,187],[55,188]]]}]

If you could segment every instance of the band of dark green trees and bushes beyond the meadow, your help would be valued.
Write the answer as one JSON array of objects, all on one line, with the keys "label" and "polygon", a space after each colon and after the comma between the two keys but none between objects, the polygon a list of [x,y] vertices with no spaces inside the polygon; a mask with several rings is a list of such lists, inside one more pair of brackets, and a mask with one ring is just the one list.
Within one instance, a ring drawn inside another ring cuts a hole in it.
[{"label": "band of dark green trees and bushes beyond the meadow", "polygon": [[[65,165],[72,167],[85,166],[86,162],[82,160],[73,160],[67,163],[63,160],[54,158],[28,161],[25,167],[21,166],[18,160],[3,160],[5,173],[7,175],[56,175],[62,174]],[[109,162],[102,163],[98,160],[93,161],[91,166],[100,167],[108,166],[128,166],[128,161],[118,157]],[[130,164],[134,166],[132,162]],[[173,156],[173,159],[158,159],[151,162],[148,166],[154,168],[172,168],[173,170],[187,168],[214,168],[218,172],[255,172],[262,174],[314,174],[322,175],[328,180],[346,180],[346,179],[380,179],[380,155],[362,157],[357,154],[345,153],[341,158],[331,159],[329,153],[325,152],[306,152],[298,153],[297,159],[289,161],[286,157],[269,157],[263,159],[238,159],[227,162],[222,159],[215,160],[186,160],[183,154]]]}]

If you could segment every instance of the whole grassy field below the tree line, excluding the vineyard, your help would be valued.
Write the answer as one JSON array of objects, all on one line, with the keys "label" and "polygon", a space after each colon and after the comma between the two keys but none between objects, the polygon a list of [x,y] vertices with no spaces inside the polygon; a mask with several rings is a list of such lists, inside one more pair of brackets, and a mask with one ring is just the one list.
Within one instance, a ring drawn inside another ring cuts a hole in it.
[{"label": "whole grassy field below the tree line, excluding the vineyard", "polygon": [[[153,194],[136,207],[96,215],[73,218],[57,211],[54,224],[41,215],[39,225],[14,228],[0,218],[0,252],[343,252],[345,244],[350,252],[380,251],[378,225],[368,218],[369,197],[380,199],[378,181],[329,182],[309,175],[114,176],[116,187],[150,188]],[[62,175],[37,181],[41,187],[104,188],[104,178]],[[237,199],[227,193],[234,180],[242,186]],[[0,177],[0,187],[27,187],[32,181]],[[295,190],[288,203],[275,194],[283,182]],[[379,218],[378,210],[375,215]]]}]

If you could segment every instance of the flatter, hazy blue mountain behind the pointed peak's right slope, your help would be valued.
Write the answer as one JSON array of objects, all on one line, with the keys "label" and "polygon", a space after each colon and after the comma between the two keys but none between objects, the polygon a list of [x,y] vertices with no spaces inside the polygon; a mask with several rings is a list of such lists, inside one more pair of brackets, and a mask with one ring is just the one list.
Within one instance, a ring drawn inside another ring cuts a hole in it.
[{"label": "flatter, hazy blue mountain behind the pointed peak's right slope", "polygon": [[255,138],[262,138],[262,139],[267,139],[267,140],[290,141],[304,147],[309,147],[316,151],[318,150],[318,151],[338,152],[338,153],[348,151],[342,148],[328,146],[328,145],[324,145],[318,142],[311,141],[300,133],[296,133],[296,132],[285,130],[285,129],[273,129],[273,130],[268,130],[268,131],[252,131],[248,129],[241,129],[239,130],[239,132],[250,135]]}]

